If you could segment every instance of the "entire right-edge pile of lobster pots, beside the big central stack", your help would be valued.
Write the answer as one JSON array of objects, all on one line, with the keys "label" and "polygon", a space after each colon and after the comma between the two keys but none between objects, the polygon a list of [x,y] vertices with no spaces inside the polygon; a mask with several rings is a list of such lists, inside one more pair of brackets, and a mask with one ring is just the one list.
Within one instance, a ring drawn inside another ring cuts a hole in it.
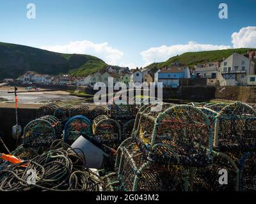
[{"label": "entire right-edge pile of lobster pots, beside the big central stack", "polygon": [[[195,175],[195,190],[255,190],[255,110],[236,102],[207,106],[202,111],[214,126],[214,151],[211,166]],[[228,177],[221,181],[216,172]]]}]

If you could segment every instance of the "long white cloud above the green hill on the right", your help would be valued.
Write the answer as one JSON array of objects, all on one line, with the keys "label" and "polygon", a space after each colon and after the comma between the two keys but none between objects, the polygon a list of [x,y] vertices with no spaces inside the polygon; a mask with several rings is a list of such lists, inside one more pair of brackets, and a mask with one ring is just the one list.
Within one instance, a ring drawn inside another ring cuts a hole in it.
[{"label": "long white cloud above the green hill on the right", "polygon": [[141,52],[143,61],[145,62],[144,66],[151,64],[152,62],[163,62],[168,60],[170,57],[175,55],[183,54],[184,52],[198,52],[198,51],[207,51],[207,50],[224,50],[232,48],[226,45],[211,45],[211,44],[200,44],[195,41],[189,41],[185,45],[172,45],[166,46],[162,45],[161,47],[152,47],[148,50]]}]

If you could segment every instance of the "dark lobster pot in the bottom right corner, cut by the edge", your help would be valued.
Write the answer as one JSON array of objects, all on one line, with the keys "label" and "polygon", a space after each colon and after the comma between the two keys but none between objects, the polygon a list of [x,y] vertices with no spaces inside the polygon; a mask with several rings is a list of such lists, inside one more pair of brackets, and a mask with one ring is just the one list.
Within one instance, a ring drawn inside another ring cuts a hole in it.
[{"label": "dark lobster pot in the bottom right corner, cut by the edge", "polygon": [[256,191],[256,152],[247,152],[239,160],[241,191]]}]

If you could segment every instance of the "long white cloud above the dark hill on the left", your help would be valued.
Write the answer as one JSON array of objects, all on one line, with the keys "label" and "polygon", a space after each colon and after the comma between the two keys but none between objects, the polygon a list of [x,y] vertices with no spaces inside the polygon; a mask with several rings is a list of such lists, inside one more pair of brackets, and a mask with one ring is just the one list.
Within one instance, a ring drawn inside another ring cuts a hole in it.
[{"label": "long white cloud above the dark hill on the left", "polygon": [[123,52],[109,47],[108,43],[93,43],[91,41],[70,41],[67,45],[55,45],[41,47],[52,52],[65,54],[88,54],[99,57],[107,64],[116,65],[120,63]]}]

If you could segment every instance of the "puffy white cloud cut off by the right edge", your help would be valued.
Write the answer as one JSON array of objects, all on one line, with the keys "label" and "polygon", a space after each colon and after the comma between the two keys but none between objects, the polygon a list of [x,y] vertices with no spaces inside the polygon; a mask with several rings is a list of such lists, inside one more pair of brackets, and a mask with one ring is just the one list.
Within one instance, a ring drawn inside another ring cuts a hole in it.
[{"label": "puffy white cloud cut off by the right edge", "polygon": [[234,48],[255,48],[256,47],[256,27],[243,27],[237,33],[233,33],[232,43]]}]

